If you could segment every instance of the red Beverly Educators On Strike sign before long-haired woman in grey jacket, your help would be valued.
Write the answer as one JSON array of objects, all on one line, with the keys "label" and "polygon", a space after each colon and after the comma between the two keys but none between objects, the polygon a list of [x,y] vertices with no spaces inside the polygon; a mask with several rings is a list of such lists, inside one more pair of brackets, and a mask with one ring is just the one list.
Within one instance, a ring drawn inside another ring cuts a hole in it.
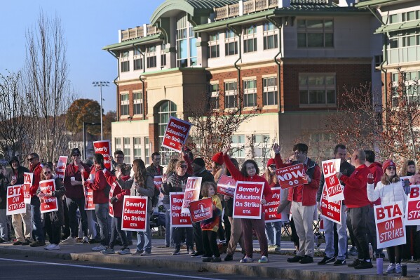
[{"label": "red Beverly Educators On Strike sign before long-haired woman in grey jacket", "polygon": [[146,231],[148,199],[147,196],[124,196],[122,230]]}]

